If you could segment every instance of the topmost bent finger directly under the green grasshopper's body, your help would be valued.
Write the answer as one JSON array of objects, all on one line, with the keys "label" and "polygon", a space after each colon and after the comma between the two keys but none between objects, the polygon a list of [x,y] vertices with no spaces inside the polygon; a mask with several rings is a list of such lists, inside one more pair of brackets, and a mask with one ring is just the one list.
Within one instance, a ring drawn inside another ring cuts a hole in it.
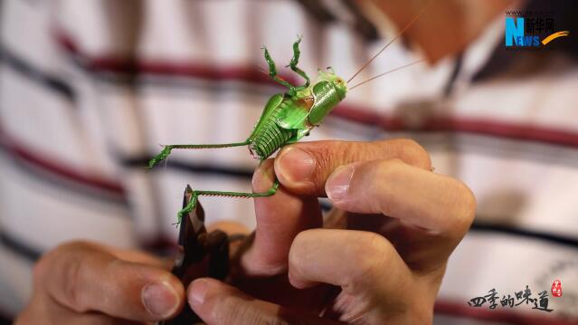
[{"label": "topmost bent finger directly under the green grasshopper's body", "polygon": [[427,151],[411,139],[374,142],[313,141],[283,148],[275,158],[280,183],[303,196],[326,196],[327,177],[340,166],[375,159],[402,160],[408,165],[431,169]]}]

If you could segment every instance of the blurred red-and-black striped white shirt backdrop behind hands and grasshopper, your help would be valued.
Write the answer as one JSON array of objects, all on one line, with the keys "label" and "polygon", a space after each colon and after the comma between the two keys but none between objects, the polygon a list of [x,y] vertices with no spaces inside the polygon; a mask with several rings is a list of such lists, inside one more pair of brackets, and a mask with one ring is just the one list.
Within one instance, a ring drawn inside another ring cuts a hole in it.
[{"label": "blurred red-and-black striped white shirt backdrop behind hands and grasshopper", "polygon": [[[1,0],[0,315],[24,307],[33,263],[54,246],[167,252],[186,184],[251,189],[258,162],[246,148],[175,151],[166,166],[144,166],[159,143],[249,136],[283,91],[261,72],[263,44],[282,67],[302,35],[302,70],[315,80],[331,66],[348,79],[426,8],[353,83],[427,62],[349,92],[308,140],[415,139],[436,172],[472,188],[477,220],[450,258],[437,323],[578,321],[578,6],[429,3]],[[511,10],[570,35],[507,49]],[[203,205],[209,222],[255,224],[250,200]],[[564,296],[549,297],[550,313],[468,305],[493,288],[500,298],[526,285],[549,292],[556,279]]]}]

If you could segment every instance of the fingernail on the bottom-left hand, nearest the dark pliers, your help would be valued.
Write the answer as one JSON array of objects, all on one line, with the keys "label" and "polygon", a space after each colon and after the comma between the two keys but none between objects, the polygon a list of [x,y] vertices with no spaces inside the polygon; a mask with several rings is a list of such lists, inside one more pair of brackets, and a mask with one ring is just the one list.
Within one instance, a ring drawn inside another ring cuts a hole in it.
[{"label": "fingernail on the bottom-left hand, nearest the dark pliers", "polygon": [[147,311],[155,316],[169,316],[178,308],[178,295],[167,282],[147,284],[141,292],[141,299]]}]

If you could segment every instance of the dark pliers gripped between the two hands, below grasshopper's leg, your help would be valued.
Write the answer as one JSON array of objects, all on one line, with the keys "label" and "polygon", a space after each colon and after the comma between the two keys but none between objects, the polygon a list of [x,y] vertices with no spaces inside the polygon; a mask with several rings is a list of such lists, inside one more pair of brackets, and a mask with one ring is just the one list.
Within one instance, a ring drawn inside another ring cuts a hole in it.
[{"label": "dark pliers gripped between the two hands, below grasshopper's leg", "polygon": [[[183,207],[191,200],[193,189],[186,186]],[[229,273],[229,239],[227,234],[215,230],[210,234],[204,227],[204,209],[200,202],[196,208],[185,215],[179,225],[178,246],[173,274],[183,282],[185,289],[201,277],[224,280]],[[172,320],[161,321],[160,325],[194,324],[201,321],[185,303],[183,311]]]}]

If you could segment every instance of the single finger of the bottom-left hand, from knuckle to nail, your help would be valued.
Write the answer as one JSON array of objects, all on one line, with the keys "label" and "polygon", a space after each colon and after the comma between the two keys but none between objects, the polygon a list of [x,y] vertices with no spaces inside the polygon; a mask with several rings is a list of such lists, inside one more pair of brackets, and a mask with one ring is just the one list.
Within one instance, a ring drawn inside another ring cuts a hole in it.
[{"label": "single finger of the bottom-left hand, from knuckle to nail", "polygon": [[44,256],[34,270],[34,285],[72,311],[126,320],[166,319],[181,309],[185,297],[183,284],[161,267],[121,261],[87,243],[65,244]]}]

